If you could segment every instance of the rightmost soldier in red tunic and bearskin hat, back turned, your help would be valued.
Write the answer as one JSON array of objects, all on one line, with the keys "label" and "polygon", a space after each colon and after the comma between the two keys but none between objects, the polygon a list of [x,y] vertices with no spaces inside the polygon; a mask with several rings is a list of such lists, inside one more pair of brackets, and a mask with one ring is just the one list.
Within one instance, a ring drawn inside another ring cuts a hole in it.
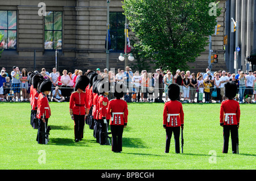
[{"label": "rightmost soldier in red tunic and bearskin hat, back turned", "polygon": [[229,135],[231,133],[232,153],[237,153],[238,128],[240,123],[240,106],[236,100],[237,85],[228,82],[224,86],[225,97],[228,98],[221,103],[220,125],[223,127],[224,145],[222,153],[228,153]]}]

